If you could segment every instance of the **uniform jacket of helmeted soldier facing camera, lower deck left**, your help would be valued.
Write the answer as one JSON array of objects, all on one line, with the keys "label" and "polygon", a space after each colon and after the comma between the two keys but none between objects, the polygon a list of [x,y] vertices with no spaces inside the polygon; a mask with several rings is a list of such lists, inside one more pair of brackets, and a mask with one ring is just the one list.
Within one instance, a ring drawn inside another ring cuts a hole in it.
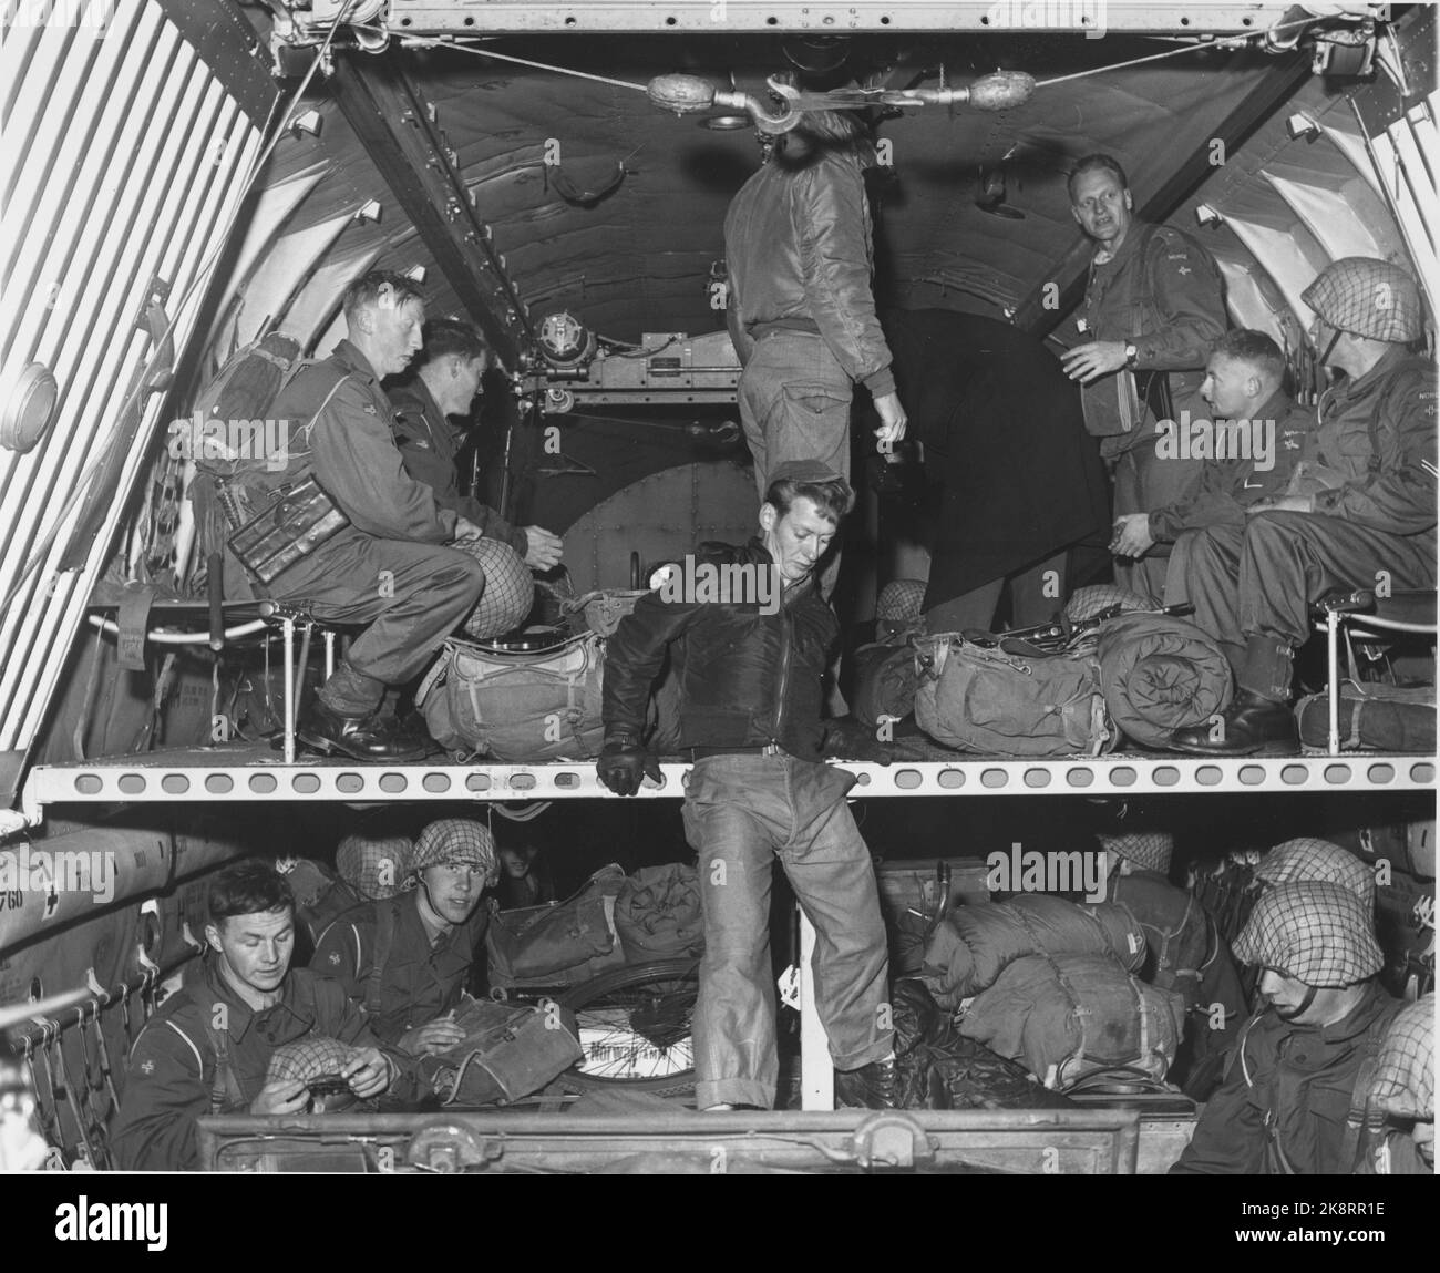
[{"label": "uniform jacket of helmeted soldier facing camera, lower deck left", "polygon": [[311,969],[336,978],[353,1004],[366,1007],[376,1035],[392,1045],[459,1005],[490,922],[490,912],[477,906],[435,945],[420,920],[419,896],[415,890],[347,912],[320,935],[310,961]]}]

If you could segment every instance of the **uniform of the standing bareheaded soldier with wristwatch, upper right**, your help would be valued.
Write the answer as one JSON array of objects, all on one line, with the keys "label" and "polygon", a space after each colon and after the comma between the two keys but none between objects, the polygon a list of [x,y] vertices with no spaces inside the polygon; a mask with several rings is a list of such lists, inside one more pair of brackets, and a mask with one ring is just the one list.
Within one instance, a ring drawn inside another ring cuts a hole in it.
[{"label": "uniform of the standing bareheaded soldier with wristwatch, upper right", "polygon": [[[1099,252],[1097,252],[1099,255]],[[1224,282],[1214,258],[1169,226],[1133,220],[1119,251],[1094,261],[1086,288],[1081,341],[1133,344],[1133,369],[1168,373],[1171,415],[1184,422],[1208,419],[1200,396],[1211,346],[1225,333]],[[1110,377],[1084,390],[1115,393]],[[1115,471],[1115,516],[1149,513],[1185,500],[1201,480],[1204,461],[1162,458],[1153,413],[1128,433],[1100,439],[1100,454]],[[1159,596],[1164,557],[1135,566],[1116,564],[1116,582]]]}]

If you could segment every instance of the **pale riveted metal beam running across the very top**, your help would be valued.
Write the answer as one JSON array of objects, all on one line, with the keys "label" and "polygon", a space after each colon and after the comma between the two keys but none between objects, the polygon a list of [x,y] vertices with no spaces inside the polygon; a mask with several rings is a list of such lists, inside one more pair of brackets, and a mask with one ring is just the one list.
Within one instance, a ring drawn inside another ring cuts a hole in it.
[{"label": "pale riveted metal beam running across the very top", "polygon": [[[317,0],[314,19],[338,0]],[[392,0],[395,35],[455,32],[1106,32],[1244,33],[1280,22],[1286,3],[1152,4],[1148,0]]]}]

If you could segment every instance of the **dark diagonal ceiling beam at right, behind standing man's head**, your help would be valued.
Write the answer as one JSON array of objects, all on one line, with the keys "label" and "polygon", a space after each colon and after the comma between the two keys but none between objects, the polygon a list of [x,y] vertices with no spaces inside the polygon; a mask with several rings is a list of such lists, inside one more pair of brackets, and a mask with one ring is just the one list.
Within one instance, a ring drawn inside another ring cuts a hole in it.
[{"label": "dark diagonal ceiling beam at right, behind standing man's head", "polygon": [[[1310,78],[1309,52],[1292,53],[1276,60],[1272,75],[1240,101],[1220,122],[1204,145],[1195,147],[1189,157],[1165,180],[1145,203],[1135,209],[1140,220],[1161,223],[1171,216],[1204,181],[1215,171],[1211,161],[1214,138],[1224,141],[1225,154],[1234,154],[1266,120],[1283,107],[1295,91]],[[1014,324],[1035,336],[1044,336],[1070,314],[1084,300],[1086,275],[1090,269],[1093,248],[1084,235],[1077,240],[1051,271],[1015,310]],[[1045,305],[1047,288],[1058,284],[1058,302]]]}]

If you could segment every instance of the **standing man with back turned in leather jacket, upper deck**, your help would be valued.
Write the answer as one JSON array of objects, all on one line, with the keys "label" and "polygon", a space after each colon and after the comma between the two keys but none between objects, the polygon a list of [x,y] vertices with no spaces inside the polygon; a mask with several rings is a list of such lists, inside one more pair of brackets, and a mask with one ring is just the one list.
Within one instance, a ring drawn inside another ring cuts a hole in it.
[{"label": "standing man with back turned in leather jacket, upper deck", "polygon": [[[724,222],[726,324],[740,356],[739,406],[759,494],[788,459],[850,477],[851,384],[880,415],[881,446],[904,438],[876,301],[871,219],[852,114],[808,111],[775,140]],[[827,567],[827,595],[835,566]]]}]

